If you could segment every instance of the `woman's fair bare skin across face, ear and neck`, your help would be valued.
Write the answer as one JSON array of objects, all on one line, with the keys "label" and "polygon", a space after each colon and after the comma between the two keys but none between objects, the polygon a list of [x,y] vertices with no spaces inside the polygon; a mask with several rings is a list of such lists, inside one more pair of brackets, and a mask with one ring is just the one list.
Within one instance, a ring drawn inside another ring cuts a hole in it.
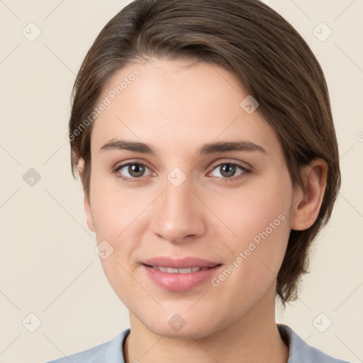
[{"label": "woman's fair bare skin across face, ear and neck", "polygon": [[[318,216],[326,163],[304,167],[305,194],[293,186],[274,130],[258,108],[249,115],[240,107],[245,90],[217,65],[135,63],[114,75],[104,95],[135,68],[140,75],[94,121],[90,196],[84,197],[89,228],[98,243],[113,247],[101,259],[106,277],[130,311],[127,362],[287,362],[274,320],[276,277],[291,228],[306,229]],[[156,154],[100,151],[121,138],[146,143]],[[236,140],[266,154],[197,155],[205,143]],[[145,163],[145,174],[135,177],[128,167],[112,172],[130,161]],[[251,172],[236,167],[225,177],[223,162]],[[175,167],[186,177],[179,186],[167,179]],[[280,215],[284,221],[217,287],[208,280],[190,291],[165,291],[140,264],[161,255],[194,256],[227,267]],[[176,313],[186,322],[179,331],[168,324]]]}]

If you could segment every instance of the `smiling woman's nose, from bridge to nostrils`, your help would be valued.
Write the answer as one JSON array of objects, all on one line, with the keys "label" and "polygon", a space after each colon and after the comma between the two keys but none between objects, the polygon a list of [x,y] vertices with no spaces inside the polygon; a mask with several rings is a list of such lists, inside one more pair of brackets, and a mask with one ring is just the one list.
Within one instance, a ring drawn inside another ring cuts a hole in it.
[{"label": "smiling woman's nose, from bridge to nostrils", "polygon": [[152,231],[172,243],[195,240],[206,231],[203,203],[191,191],[187,180],[179,186],[167,180],[164,193],[155,205]]}]

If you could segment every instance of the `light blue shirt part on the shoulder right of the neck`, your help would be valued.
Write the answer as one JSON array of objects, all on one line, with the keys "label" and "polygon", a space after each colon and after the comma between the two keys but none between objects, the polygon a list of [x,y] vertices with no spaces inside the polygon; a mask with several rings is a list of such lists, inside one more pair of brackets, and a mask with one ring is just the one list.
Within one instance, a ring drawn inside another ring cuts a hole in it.
[{"label": "light blue shirt part on the shoulder right of the neck", "polygon": [[289,342],[288,363],[348,363],[311,347],[287,325],[277,324],[277,328],[281,337]]}]

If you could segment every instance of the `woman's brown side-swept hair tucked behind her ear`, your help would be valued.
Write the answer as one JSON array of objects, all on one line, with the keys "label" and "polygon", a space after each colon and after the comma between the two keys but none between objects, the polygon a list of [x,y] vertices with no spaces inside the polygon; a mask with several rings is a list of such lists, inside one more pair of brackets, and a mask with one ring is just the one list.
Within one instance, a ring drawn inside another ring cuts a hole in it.
[{"label": "woman's brown side-swept hair tucked behind her ear", "polygon": [[315,158],[327,162],[318,218],[306,230],[291,230],[277,275],[276,294],[282,305],[296,300],[301,277],[308,273],[309,247],[328,223],[340,189],[337,139],[318,60],[293,26],[259,0],[131,2],[108,21],[91,45],[72,91],[68,139],[72,174],[75,178],[83,160],[79,174],[88,198],[93,125],[89,115],[94,115],[116,72],[151,57],[208,62],[237,77],[274,128],[294,185],[303,188],[301,167]]}]

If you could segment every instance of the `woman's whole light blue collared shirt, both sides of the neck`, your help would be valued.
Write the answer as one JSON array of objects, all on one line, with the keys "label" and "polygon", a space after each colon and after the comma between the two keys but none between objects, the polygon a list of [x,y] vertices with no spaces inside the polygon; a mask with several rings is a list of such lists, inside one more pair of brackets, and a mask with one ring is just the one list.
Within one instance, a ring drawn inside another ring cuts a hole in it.
[{"label": "woman's whole light blue collared shirt, both sides of the neck", "polygon": [[[281,337],[289,341],[288,363],[348,363],[311,347],[287,325],[277,324],[277,328]],[[125,363],[123,342],[129,333],[130,329],[126,329],[109,342],[48,363]]]}]

